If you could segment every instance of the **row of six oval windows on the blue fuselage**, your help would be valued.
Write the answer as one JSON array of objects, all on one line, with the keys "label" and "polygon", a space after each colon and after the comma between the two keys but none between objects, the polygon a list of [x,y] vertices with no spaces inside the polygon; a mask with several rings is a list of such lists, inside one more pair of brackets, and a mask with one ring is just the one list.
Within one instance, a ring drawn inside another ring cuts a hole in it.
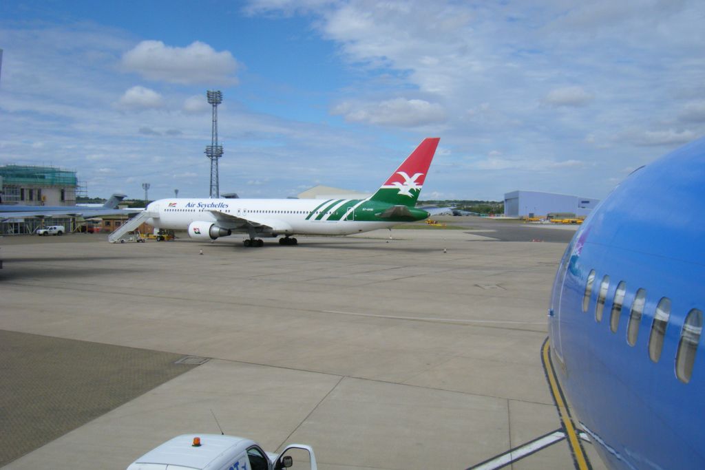
[{"label": "row of six oval windows on the blue fuselage", "polygon": [[[587,275],[585,283],[585,292],[582,297],[582,311],[587,313],[590,306],[590,299],[595,285],[596,272],[591,270]],[[599,290],[597,290],[597,299],[595,302],[595,321],[601,323],[603,319],[603,311],[607,302],[608,290],[610,287],[610,277],[605,275],[600,281]],[[612,297],[612,306],[610,311],[610,330],[612,333],[617,333],[619,327],[620,316],[624,307],[624,299],[627,293],[627,284],[620,280],[615,287]],[[651,321],[651,330],[649,333],[649,359],[657,363],[661,359],[663,350],[663,339],[666,337],[666,328],[670,319],[670,299],[661,297],[654,309],[654,316]],[[644,315],[644,307],[646,306],[646,290],[639,288],[635,292],[634,299],[629,308],[629,319],[627,321],[627,344],[634,347],[637,344],[639,337],[639,326],[642,323]],[[691,309],[680,332],[680,341],[678,342],[678,350],[675,357],[675,376],[682,383],[688,383],[692,378],[693,365],[695,364],[695,356],[697,354],[700,343],[700,336],[703,328],[703,312],[699,309]]]}]

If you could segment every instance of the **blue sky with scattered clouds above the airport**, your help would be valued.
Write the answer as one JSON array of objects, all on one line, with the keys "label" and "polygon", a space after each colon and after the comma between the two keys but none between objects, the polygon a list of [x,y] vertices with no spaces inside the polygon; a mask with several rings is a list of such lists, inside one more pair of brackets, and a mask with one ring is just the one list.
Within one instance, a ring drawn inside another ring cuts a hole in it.
[{"label": "blue sky with scattered clouds above the airport", "polygon": [[441,137],[422,199],[603,198],[705,135],[702,1],[0,2],[0,165],[91,196],[372,192]]}]

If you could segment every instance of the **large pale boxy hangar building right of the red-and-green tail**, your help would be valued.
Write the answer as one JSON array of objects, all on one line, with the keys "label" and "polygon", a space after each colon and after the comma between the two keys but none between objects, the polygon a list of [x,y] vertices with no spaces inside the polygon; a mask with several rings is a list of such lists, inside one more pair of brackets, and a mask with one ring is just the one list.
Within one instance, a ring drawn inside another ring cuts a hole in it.
[{"label": "large pale boxy hangar building right of the red-and-green tail", "polygon": [[575,214],[585,217],[600,202],[589,197],[539,191],[513,191],[504,194],[507,217],[546,217],[548,214]]}]

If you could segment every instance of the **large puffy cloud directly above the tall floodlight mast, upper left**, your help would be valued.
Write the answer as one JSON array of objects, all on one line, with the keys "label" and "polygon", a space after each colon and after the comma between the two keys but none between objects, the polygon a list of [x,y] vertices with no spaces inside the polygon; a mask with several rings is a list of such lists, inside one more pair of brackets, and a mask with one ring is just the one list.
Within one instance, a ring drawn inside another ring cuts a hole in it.
[{"label": "large puffy cloud directly above the tall floodlight mast, upper left", "polygon": [[170,47],[161,41],[142,41],[122,58],[125,70],[149,80],[184,85],[236,85],[238,68],[233,54],[217,52],[208,44],[195,41],[187,47]]}]

